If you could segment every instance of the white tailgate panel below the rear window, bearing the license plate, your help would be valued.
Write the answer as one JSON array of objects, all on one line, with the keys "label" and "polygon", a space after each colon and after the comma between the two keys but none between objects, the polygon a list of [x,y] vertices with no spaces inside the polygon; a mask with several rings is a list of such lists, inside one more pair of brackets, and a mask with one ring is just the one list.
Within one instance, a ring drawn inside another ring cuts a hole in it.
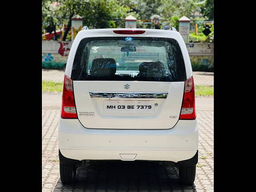
[{"label": "white tailgate panel below the rear window, bearing the license plate", "polygon": [[184,82],[73,84],[78,119],[86,128],[170,129],[180,116]]}]

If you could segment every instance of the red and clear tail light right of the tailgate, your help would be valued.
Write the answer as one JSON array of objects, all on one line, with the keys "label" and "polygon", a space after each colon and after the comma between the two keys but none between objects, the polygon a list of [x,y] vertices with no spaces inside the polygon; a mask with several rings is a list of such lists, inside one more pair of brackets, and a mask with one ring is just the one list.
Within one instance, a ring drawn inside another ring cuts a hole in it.
[{"label": "red and clear tail light right of the tailgate", "polygon": [[194,79],[185,81],[184,96],[180,113],[181,120],[196,119]]}]

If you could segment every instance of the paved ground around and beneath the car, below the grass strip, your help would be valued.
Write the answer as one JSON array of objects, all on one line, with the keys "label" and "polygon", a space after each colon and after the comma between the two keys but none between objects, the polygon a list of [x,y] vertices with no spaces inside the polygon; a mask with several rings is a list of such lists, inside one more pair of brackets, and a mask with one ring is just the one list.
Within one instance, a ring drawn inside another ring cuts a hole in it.
[{"label": "paved ground around and beneath the car, below the grass strip", "polygon": [[42,192],[213,192],[213,98],[196,98],[199,163],[194,186],[178,182],[178,169],[156,162],[100,162],[80,166],[74,185],[60,182],[60,93],[43,93]]}]

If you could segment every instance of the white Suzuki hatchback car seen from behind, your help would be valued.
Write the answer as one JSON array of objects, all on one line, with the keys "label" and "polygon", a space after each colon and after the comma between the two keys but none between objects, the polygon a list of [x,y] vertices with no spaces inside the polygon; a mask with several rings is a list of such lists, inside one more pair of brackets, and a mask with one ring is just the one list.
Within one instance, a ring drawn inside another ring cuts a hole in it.
[{"label": "white Suzuki hatchback car seen from behind", "polygon": [[62,183],[82,160],[170,161],[193,184],[198,162],[194,80],[179,32],[78,32],[66,64],[59,120]]}]

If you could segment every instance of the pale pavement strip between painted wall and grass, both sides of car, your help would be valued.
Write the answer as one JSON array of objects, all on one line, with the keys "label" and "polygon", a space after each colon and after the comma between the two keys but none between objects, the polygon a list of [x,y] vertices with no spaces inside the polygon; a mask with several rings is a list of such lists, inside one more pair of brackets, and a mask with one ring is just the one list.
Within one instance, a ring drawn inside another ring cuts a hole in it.
[{"label": "pale pavement strip between painted wall and grass, both sides of car", "polygon": [[[194,82],[196,85],[213,85],[212,72],[193,72]],[[63,82],[63,70],[46,70],[42,69],[42,80]]]}]

